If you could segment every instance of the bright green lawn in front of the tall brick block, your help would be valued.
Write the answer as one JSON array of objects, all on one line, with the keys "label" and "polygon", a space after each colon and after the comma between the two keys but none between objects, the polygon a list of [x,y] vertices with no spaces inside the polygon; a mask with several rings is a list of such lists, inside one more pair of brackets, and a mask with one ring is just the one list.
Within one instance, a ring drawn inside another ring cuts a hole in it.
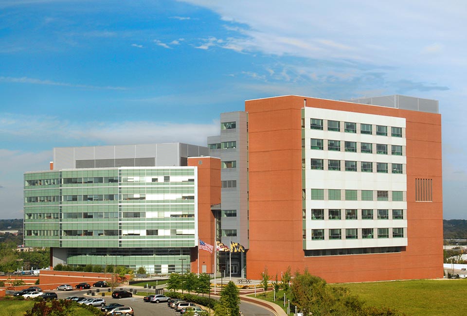
[{"label": "bright green lawn in front of the tall brick block", "polygon": [[369,305],[390,307],[410,316],[467,315],[467,280],[412,280],[335,286],[349,288]]}]

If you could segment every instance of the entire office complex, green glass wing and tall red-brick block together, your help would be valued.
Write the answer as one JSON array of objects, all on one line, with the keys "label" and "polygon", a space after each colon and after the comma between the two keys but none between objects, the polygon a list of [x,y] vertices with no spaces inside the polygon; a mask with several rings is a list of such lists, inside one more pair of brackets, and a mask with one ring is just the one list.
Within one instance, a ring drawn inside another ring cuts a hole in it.
[{"label": "entire office complex, green glass wing and tall red-brick block together", "polygon": [[[156,273],[443,276],[437,101],[248,100],[207,144],[54,149],[53,170],[25,174],[26,245]],[[246,251],[215,263],[199,240]]]}]

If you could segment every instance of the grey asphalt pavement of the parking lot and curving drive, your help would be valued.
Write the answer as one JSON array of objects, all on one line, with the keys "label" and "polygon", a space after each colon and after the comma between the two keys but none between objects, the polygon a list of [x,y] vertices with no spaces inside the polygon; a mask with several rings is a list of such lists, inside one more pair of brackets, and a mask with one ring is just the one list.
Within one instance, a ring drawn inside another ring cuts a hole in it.
[{"label": "grey asphalt pavement of the parking lot and curving drive", "polygon": [[[92,288],[95,291],[94,288]],[[46,291],[49,292],[49,291]],[[66,298],[68,296],[86,296],[87,290],[84,291],[53,291],[57,293],[58,298]],[[88,296],[91,297],[91,296]],[[96,293],[96,298],[102,298],[99,293]],[[175,310],[169,308],[166,302],[161,302],[159,304],[155,303],[147,303],[143,301],[143,297],[141,296],[134,296],[132,298],[111,298],[105,297],[107,304],[110,303],[120,303],[124,304],[125,306],[131,306],[135,311],[135,316],[180,316],[180,313],[175,312]],[[269,311],[268,309],[247,303],[242,302],[240,304],[240,311],[243,313],[244,316],[274,316],[274,314]]]}]

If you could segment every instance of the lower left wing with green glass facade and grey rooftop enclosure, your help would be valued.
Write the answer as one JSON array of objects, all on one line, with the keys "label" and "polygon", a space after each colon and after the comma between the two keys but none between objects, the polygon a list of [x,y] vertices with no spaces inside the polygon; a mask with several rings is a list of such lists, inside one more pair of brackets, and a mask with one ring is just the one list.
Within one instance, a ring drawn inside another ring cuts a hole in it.
[{"label": "lower left wing with green glass facade and grey rooftop enclosure", "polygon": [[25,244],[51,247],[53,266],[212,273],[211,256],[196,252],[198,238],[214,239],[220,204],[220,159],[207,153],[182,143],[54,148],[52,170],[24,175]]}]

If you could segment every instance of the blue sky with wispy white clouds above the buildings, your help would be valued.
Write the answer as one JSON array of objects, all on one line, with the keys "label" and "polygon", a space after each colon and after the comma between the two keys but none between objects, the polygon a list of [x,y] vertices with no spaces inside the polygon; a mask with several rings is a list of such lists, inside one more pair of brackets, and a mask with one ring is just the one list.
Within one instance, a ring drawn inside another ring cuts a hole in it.
[{"label": "blue sky with wispy white clouds above the buildings", "polygon": [[[408,2],[408,3],[407,3]],[[444,218],[466,219],[465,1],[0,0],[0,218],[52,148],[205,145],[285,94],[439,100]]]}]

